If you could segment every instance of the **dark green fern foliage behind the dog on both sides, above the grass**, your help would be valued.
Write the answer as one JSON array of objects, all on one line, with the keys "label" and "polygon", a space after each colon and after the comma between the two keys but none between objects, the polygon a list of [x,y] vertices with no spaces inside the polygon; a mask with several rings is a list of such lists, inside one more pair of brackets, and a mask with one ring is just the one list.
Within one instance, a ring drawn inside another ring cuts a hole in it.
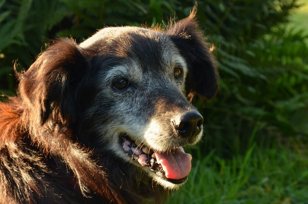
[{"label": "dark green fern foliage behind the dog on both sides, above the grass", "polygon": [[[0,0],[0,90],[12,95],[17,70],[27,69],[48,39],[78,42],[105,26],[164,27],[184,18],[194,0]],[[283,137],[307,137],[308,36],[283,26],[297,0],[199,0],[201,29],[214,44],[221,90],[207,103],[196,100],[205,118],[203,154],[216,149],[244,153],[256,141],[269,146]],[[251,134],[251,132],[254,132]]]}]

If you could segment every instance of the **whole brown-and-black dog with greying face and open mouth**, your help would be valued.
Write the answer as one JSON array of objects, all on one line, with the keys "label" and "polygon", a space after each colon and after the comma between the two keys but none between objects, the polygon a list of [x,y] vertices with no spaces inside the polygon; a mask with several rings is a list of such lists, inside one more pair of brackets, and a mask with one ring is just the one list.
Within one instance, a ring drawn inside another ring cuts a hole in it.
[{"label": "whole brown-and-black dog with greying face and open mouth", "polygon": [[0,103],[0,203],[161,203],[187,180],[218,70],[196,10],[56,39]]}]

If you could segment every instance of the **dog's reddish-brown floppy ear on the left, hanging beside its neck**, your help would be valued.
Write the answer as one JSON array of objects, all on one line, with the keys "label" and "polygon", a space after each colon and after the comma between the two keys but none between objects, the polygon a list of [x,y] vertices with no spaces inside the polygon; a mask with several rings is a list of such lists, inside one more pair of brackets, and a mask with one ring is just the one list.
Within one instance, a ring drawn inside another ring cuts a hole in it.
[{"label": "dog's reddish-brown floppy ear on the left, hanging beside its neck", "polygon": [[76,87],[88,63],[84,52],[72,39],[57,39],[25,74],[18,74],[19,95],[36,116],[32,120],[43,124],[53,117],[65,124],[75,118]]}]

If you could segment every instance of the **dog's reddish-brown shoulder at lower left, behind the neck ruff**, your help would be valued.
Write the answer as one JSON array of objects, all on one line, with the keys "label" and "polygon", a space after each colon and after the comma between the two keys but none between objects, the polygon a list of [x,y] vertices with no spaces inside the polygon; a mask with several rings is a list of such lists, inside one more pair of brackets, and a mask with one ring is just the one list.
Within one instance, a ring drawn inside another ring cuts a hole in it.
[{"label": "dog's reddish-brown shoulder at lower left, behind the neck ruff", "polygon": [[77,203],[82,194],[31,141],[25,114],[19,97],[0,102],[0,203]]}]

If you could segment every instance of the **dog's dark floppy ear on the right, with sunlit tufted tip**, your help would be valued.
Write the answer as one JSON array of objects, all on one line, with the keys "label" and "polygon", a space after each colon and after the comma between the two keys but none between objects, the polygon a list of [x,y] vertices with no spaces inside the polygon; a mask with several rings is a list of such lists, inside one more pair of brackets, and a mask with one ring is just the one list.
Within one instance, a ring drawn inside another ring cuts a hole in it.
[{"label": "dog's dark floppy ear on the right, with sunlit tufted tip", "polygon": [[186,93],[188,96],[197,94],[212,99],[218,92],[218,71],[214,57],[202,33],[198,31],[195,21],[196,8],[191,14],[173,25],[165,34],[180,50],[186,59],[188,74],[186,77]]}]

